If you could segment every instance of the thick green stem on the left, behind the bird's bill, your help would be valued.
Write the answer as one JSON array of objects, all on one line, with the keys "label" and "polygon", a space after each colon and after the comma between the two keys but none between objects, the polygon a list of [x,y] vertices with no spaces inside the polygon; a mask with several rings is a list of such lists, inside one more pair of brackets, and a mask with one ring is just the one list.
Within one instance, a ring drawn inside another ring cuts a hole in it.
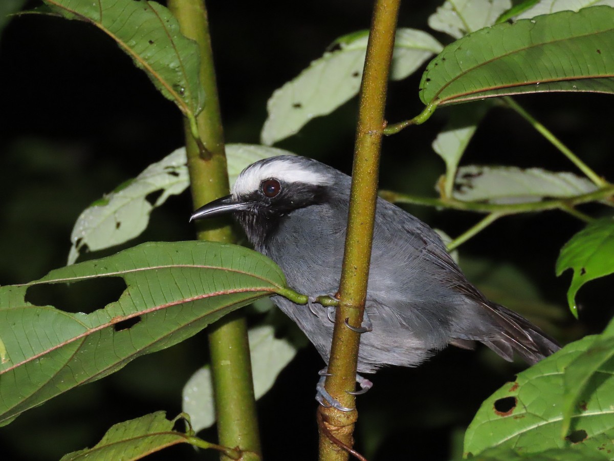
[{"label": "thick green stem on the left, behind the bird's bill", "polygon": [[[193,137],[186,119],[185,141],[190,173],[190,190],[195,208],[228,194],[228,172],[223,142],[222,117],[207,10],[203,0],[169,0],[182,33],[198,42],[200,81],[206,104],[196,117],[201,146]],[[228,221],[198,223],[198,238],[234,242]],[[217,430],[220,444],[246,451],[243,459],[260,459],[260,438],[255,411],[251,361],[247,342],[247,323],[240,313],[227,316],[209,328],[211,370],[216,399]],[[222,459],[228,459],[222,455]]]}]

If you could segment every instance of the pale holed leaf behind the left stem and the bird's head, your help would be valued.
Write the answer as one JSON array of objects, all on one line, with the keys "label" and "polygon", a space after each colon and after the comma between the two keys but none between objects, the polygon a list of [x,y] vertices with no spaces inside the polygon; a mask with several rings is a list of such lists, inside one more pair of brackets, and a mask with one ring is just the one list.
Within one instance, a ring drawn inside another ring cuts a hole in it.
[{"label": "pale holed leaf behind the left stem and the bird's head", "polygon": [[[287,154],[292,152],[254,144],[228,144],[230,185],[243,168],[256,160]],[[147,228],[153,208],[190,185],[186,162],[185,148],[179,148],[86,208],[72,229],[68,264],[77,261],[84,247],[90,251],[103,250],[138,237]],[[155,197],[156,194],[160,195]]]}]

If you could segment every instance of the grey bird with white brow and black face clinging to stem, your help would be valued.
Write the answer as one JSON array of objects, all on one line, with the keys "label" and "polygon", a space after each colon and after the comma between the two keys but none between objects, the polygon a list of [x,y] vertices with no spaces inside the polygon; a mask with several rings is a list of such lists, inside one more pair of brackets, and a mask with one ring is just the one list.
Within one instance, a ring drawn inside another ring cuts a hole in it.
[{"label": "grey bird with white brow and black face clinging to stem", "polygon": [[[230,213],[254,249],[281,267],[288,285],[316,299],[339,287],[350,186],[350,176],[317,160],[268,157],[246,167],[230,195],[198,208],[190,220]],[[271,299],[328,364],[335,308]],[[489,301],[435,230],[381,198],[359,331],[359,373],[418,366],[448,345],[474,349],[481,342],[505,360],[516,353],[529,364],[560,348],[526,318]]]}]

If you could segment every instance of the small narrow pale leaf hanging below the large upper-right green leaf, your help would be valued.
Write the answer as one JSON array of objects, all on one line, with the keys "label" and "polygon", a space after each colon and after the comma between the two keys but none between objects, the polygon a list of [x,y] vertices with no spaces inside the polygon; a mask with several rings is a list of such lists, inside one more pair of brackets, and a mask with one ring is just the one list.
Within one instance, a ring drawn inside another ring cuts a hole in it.
[{"label": "small narrow pale leaf hanging below the large upper-right green leaf", "polygon": [[489,103],[472,104],[468,108],[462,108],[462,111],[453,110],[448,124],[446,124],[437,135],[437,138],[435,138],[435,141],[433,141],[433,151],[446,164],[443,190],[440,191],[443,197],[452,197],[458,164],[465,149],[467,149],[469,141],[473,138],[473,133],[475,133],[486,111],[491,106],[492,104]]}]

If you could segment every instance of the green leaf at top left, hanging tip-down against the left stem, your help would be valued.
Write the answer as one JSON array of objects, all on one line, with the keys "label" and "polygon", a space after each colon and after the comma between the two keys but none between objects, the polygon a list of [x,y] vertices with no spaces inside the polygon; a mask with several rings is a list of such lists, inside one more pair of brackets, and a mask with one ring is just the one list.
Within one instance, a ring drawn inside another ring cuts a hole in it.
[{"label": "green leaf at top left, hanging tip-down against the left stem", "polygon": [[165,98],[187,117],[203,109],[198,45],[164,6],[137,0],[43,0],[66,19],[90,23],[113,39]]}]

